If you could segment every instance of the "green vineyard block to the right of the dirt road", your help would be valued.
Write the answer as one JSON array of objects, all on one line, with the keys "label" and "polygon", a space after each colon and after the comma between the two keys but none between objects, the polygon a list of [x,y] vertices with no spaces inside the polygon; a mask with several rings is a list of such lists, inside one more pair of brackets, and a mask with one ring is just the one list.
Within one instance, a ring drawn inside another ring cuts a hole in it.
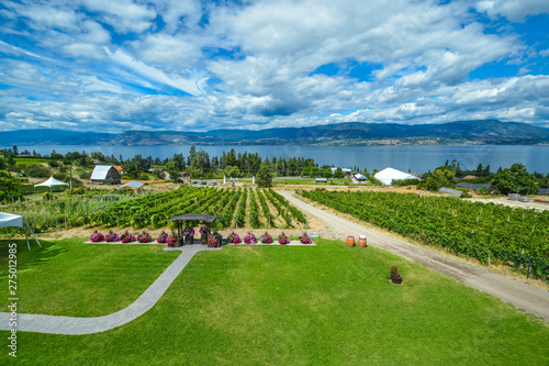
[{"label": "green vineyard block to the right of the dirt road", "polygon": [[303,197],[483,264],[511,264],[536,278],[549,275],[549,212],[414,193],[316,189]]}]

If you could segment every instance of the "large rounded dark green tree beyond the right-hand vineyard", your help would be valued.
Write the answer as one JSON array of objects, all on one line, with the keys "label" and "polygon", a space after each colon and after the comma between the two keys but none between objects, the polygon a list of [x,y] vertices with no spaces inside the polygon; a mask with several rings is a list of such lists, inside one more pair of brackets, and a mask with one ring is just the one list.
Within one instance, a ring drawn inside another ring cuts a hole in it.
[{"label": "large rounded dark green tree beyond the right-hand vineyard", "polygon": [[520,193],[531,195],[537,193],[536,178],[526,170],[526,167],[516,163],[508,169],[503,169],[495,174],[492,185],[501,195]]}]

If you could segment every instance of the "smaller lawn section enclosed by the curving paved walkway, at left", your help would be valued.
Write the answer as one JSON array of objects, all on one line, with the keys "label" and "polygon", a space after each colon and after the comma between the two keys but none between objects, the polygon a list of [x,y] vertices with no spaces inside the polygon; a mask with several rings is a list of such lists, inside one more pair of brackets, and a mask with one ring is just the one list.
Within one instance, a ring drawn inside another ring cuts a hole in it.
[{"label": "smaller lawn section enclosed by the curving paved walkway, at left", "polygon": [[[82,244],[86,239],[18,243],[19,312],[99,317],[130,306],[177,253],[160,245]],[[0,242],[0,311],[8,311],[8,243]]]}]

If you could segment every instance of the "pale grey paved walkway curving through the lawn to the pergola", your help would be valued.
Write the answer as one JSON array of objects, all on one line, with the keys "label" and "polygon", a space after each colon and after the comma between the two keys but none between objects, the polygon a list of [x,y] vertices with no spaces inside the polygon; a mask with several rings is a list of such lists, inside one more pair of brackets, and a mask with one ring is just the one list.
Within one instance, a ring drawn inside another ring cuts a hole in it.
[{"label": "pale grey paved walkway curving through the lawn to the pergola", "polygon": [[[191,258],[201,251],[221,251],[203,245],[184,245],[181,254],[131,306],[109,315],[96,318],[75,318],[58,315],[37,315],[18,313],[18,331],[51,334],[91,334],[111,330],[131,322],[150,310],[163,297],[171,282],[183,270]],[[9,331],[10,313],[0,312],[0,330]]]}]

